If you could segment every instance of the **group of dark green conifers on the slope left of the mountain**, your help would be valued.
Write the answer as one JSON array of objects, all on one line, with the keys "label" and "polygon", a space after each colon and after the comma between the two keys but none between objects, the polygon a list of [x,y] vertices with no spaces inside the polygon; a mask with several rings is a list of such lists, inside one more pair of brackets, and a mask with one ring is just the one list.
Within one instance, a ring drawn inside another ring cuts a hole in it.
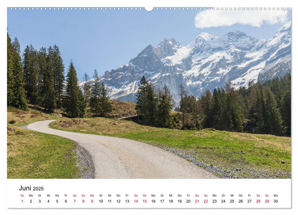
[{"label": "group of dark green conifers on the slope left of the mountain", "polygon": [[57,45],[26,46],[21,55],[17,37],[11,40],[7,33],[7,106],[26,110],[29,104],[37,104],[46,111],[62,108],[69,117],[83,117],[90,107],[94,116],[106,117],[112,111],[107,89],[100,84],[94,71],[95,84],[84,75],[84,92],[78,85],[77,72],[70,62],[66,76],[64,63]]}]

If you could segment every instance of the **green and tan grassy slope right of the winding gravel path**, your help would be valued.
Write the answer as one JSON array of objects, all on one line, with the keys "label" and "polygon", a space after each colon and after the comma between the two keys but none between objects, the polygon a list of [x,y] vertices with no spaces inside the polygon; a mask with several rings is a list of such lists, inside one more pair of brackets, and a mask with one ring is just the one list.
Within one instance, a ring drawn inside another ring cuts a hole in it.
[{"label": "green and tan grassy slope right of the winding gravel path", "polygon": [[[214,129],[180,131],[105,118],[60,119],[53,122],[51,127],[139,140],[174,150],[181,156],[188,154],[209,166],[220,167],[224,174],[239,178],[291,177],[291,139],[288,137]],[[193,162],[192,159],[189,161]],[[220,174],[218,176],[221,177]]]}]

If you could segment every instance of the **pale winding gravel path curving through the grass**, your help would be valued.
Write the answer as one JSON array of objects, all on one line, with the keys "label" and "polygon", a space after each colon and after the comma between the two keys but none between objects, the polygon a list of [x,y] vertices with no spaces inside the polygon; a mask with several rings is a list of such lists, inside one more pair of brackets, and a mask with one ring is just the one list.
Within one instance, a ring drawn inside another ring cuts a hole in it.
[{"label": "pale winding gravel path curving through the grass", "polygon": [[53,121],[38,121],[27,128],[77,142],[92,157],[94,178],[216,178],[161,148],[129,139],[55,130],[48,127]]}]

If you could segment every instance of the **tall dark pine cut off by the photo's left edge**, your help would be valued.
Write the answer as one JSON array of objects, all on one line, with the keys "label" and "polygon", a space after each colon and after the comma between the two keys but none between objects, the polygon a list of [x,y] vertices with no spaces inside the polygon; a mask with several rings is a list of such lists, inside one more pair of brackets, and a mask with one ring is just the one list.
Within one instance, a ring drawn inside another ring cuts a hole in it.
[{"label": "tall dark pine cut off by the photo's left edge", "polygon": [[7,33],[7,106],[14,100],[14,53],[11,39]]}]

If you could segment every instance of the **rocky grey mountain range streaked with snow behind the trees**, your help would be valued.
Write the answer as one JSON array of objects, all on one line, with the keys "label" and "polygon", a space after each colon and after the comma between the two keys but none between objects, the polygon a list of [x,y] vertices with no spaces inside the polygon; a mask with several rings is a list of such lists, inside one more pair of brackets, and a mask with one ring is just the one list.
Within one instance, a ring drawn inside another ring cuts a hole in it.
[{"label": "rocky grey mountain range streaked with snow behind the trees", "polygon": [[[241,31],[222,37],[201,33],[183,46],[164,38],[157,47],[148,45],[126,65],[106,71],[103,81],[111,99],[136,102],[142,76],[156,88],[167,85],[175,101],[179,84],[199,97],[207,88],[223,87],[231,81],[238,88],[291,72],[291,22],[269,40],[252,38]],[[92,82],[92,80],[91,80]],[[83,81],[79,84],[83,86]]]}]

